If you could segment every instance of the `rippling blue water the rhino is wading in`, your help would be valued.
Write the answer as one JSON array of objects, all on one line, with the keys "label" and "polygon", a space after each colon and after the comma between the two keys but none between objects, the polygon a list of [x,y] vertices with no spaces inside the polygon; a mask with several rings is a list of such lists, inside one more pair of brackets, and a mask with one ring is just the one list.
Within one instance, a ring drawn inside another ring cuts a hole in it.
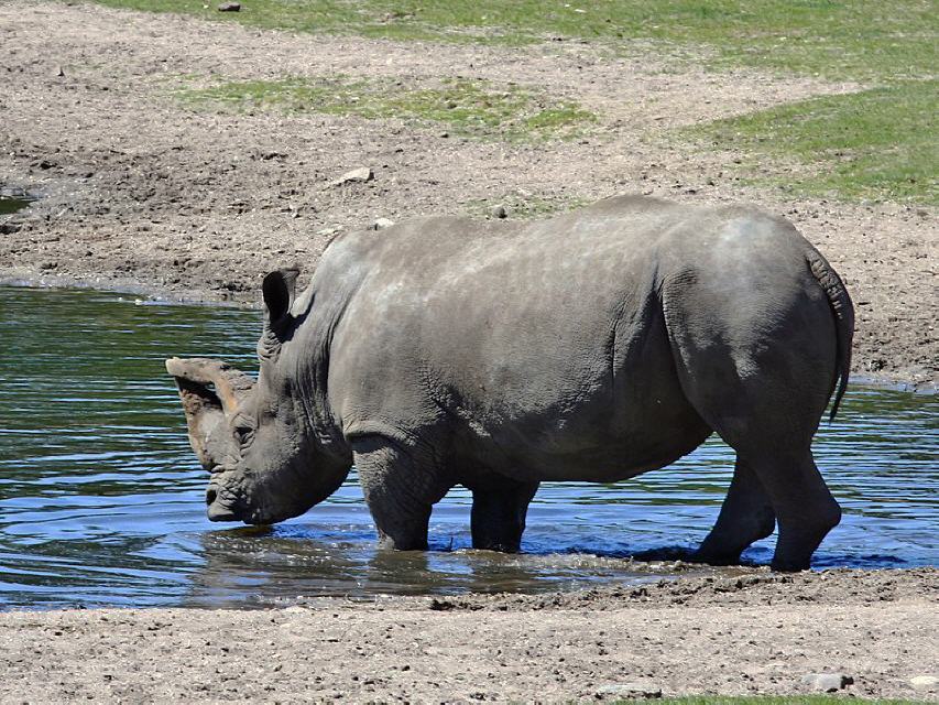
[{"label": "rippling blue water the rhino is wading in", "polygon": [[[253,369],[260,314],[91,291],[0,286],[0,609],[255,607],[299,597],[555,590],[657,578],[624,561],[691,546],[717,517],[732,453],[716,440],[610,486],[543,486],[523,550],[468,550],[469,503],[435,508],[429,553],[387,554],[354,474],[272,529],[205,518],[163,359]],[[853,388],[816,454],[844,519],[815,565],[939,565],[936,397]],[[773,539],[745,555],[768,562]]]}]

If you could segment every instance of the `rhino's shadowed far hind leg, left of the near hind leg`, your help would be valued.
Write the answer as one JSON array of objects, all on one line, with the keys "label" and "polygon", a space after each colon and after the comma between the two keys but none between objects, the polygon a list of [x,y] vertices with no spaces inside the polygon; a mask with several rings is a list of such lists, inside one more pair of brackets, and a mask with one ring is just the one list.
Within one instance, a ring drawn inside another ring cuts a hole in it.
[{"label": "rhino's shadowed far hind leg, left of the near hind leg", "polygon": [[776,514],[763,484],[740,457],[721,513],[695,554],[711,565],[735,565],[740,554],[754,541],[765,539],[776,525]]}]

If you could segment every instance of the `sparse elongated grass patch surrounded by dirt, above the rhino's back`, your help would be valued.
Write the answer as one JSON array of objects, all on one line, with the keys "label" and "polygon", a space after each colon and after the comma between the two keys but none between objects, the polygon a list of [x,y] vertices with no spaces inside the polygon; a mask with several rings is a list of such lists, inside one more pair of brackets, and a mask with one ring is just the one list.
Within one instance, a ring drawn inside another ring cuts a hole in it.
[{"label": "sparse elongated grass patch surrounded by dirt, above the rhino's back", "polygon": [[452,78],[434,86],[350,77],[229,82],[184,88],[188,105],[238,111],[324,112],[402,119],[474,138],[536,141],[581,134],[596,116],[577,104],[515,85]]}]

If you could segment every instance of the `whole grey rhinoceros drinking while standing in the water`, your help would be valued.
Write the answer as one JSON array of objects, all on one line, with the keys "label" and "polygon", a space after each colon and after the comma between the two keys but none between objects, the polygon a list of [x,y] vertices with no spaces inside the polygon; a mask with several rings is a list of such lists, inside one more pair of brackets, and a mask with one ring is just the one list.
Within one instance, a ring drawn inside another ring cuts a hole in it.
[{"label": "whole grey rhinoceros drinking while standing in the water", "polygon": [[629,196],[424,217],[339,237],[301,293],[297,274],[263,281],[256,382],[166,361],[214,521],[296,517],[354,464],[382,545],[426,550],[462,485],[472,545],[517,551],[539,482],[624,480],[712,433],[736,462],[697,560],[739,562],[778,523],[772,566],[804,570],[840,521],[810,446],[844,393],[853,307],[779,217]]}]

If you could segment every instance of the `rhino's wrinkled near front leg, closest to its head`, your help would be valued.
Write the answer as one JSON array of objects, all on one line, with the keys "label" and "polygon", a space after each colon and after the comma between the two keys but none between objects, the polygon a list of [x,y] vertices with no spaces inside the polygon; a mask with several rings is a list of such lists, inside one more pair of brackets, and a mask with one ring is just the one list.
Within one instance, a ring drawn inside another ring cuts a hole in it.
[{"label": "rhino's wrinkled near front leg, closest to its head", "polygon": [[422,453],[384,436],[352,443],[365,503],[379,532],[379,544],[396,551],[426,551],[432,507],[449,486]]}]

